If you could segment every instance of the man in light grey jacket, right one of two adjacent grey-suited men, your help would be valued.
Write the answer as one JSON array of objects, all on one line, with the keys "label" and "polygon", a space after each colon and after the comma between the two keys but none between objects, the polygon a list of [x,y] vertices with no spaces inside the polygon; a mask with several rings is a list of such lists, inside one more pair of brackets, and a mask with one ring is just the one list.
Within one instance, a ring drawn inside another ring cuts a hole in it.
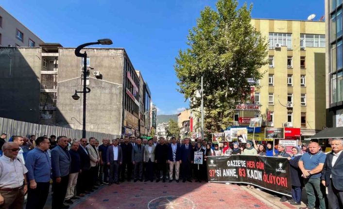
[{"label": "man in light grey jacket, right one of two adjacent grey-suited men", "polygon": [[148,145],[145,146],[144,148],[144,156],[143,160],[145,162],[145,168],[146,168],[146,173],[145,173],[145,181],[150,180],[153,182],[154,179],[154,161],[155,161],[155,146],[153,145],[153,140],[149,139]]}]

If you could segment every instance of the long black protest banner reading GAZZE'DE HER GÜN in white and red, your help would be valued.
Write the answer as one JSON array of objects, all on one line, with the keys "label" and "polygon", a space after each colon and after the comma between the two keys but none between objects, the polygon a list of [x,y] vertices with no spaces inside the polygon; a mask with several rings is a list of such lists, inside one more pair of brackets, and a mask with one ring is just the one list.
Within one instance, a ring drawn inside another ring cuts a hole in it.
[{"label": "long black protest banner reading GAZZE'DE HER G\u00dcN in white and red", "polygon": [[207,176],[212,182],[248,183],[292,195],[287,158],[232,155],[207,157]]}]

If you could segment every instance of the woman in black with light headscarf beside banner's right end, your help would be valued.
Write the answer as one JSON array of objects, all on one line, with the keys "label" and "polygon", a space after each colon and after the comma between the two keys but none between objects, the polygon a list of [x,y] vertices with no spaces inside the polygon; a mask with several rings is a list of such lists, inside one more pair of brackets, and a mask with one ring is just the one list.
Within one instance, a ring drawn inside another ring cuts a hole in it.
[{"label": "woman in black with light headscarf beside banner's right end", "polygon": [[301,157],[299,147],[292,147],[292,157],[288,157],[290,162],[290,173],[291,173],[291,182],[292,182],[292,205],[301,205],[301,194],[302,194],[302,172],[298,168],[298,161]]}]

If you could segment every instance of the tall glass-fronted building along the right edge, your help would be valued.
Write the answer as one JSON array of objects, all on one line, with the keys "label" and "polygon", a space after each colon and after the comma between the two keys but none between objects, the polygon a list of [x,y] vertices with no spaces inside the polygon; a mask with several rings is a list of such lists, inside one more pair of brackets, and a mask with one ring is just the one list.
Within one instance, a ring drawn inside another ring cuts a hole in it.
[{"label": "tall glass-fronted building along the right edge", "polygon": [[342,1],[325,0],[326,126],[343,127]]}]

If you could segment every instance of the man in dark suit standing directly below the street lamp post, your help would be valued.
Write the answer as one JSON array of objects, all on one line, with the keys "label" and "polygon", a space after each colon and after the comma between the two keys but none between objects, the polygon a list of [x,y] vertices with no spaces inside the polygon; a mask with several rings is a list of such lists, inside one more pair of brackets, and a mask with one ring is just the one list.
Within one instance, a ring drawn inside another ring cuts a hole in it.
[{"label": "man in dark suit standing directly below the street lamp post", "polygon": [[90,193],[92,191],[91,185],[89,184],[90,178],[90,159],[89,153],[86,149],[87,139],[83,138],[79,141],[80,146],[77,152],[80,155],[81,161],[81,172],[77,177],[76,183],[76,194],[80,197],[84,197],[85,193]]}]

